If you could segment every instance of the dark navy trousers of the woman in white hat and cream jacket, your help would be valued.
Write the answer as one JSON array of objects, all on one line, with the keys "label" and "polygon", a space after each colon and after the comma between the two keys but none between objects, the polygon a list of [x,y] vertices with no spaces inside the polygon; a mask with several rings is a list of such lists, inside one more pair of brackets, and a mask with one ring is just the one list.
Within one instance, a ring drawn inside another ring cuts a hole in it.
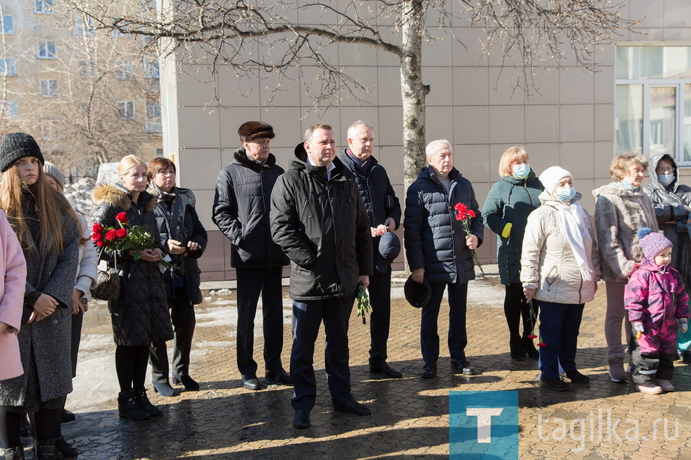
[{"label": "dark navy trousers of the woman in white hat and cream jacket", "polygon": [[583,318],[585,304],[542,302],[540,306],[540,361],[538,367],[542,378],[559,378],[559,366],[564,372],[576,370],[576,349],[578,329]]}]

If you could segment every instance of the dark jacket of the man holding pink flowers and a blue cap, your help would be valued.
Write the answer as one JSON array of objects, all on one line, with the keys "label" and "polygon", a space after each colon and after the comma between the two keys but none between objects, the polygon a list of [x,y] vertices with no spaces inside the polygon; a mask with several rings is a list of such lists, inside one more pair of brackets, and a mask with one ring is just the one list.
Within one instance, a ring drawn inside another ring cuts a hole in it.
[{"label": "dark jacket of the man holding pink flowers and a blue cap", "polygon": [[[384,224],[384,220],[392,218],[396,221],[396,227],[390,229],[393,231],[401,224],[401,204],[393,191],[384,166],[381,166],[375,157],[370,156],[368,161],[370,162],[368,168],[361,174],[355,169],[355,164],[348,153],[344,151],[341,155],[341,162],[357,182],[357,189],[365,204],[370,227],[377,227]],[[372,256],[375,258],[379,253],[379,240],[381,236],[372,238]]]}]

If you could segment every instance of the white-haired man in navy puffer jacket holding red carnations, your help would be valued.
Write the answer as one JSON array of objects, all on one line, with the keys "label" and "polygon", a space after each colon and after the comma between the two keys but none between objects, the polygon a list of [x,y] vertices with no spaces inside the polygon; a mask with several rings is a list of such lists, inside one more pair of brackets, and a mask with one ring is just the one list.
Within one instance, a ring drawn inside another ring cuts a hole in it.
[{"label": "white-haired man in navy puffer jacket holding red carnations", "polygon": [[[474,375],[466,360],[466,295],[468,281],[475,278],[472,249],[482,244],[482,217],[471,182],[453,167],[451,144],[435,140],[428,144],[429,166],[408,187],[404,241],[413,280],[427,278],[432,298],[422,307],[420,342],[422,343],[422,378],[437,375],[439,335],[437,318],[444,287],[448,287],[448,351],[451,370]],[[471,234],[456,220],[455,204],[463,203],[475,212]]]}]

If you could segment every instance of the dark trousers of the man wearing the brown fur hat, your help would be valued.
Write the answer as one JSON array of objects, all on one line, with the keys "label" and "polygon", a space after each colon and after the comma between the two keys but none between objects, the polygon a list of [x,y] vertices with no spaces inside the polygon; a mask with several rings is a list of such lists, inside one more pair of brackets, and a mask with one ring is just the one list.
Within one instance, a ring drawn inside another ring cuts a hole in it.
[{"label": "dark trousers of the man wearing the brown fur hat", "polygon": [[262,300],[265,368],[277,370],[283,349],[283,295],[281,276],[283,267],[238,268],[238,370],[254,375],[257,363],[254,352],[254,316],[259,294]]}]

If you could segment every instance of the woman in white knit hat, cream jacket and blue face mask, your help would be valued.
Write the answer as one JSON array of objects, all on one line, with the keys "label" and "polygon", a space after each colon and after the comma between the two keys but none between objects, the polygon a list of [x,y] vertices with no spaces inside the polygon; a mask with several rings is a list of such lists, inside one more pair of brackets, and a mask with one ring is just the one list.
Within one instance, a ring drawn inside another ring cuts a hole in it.
[{"label": "woman in white knit hat, cream jacket and blue face mask", "polygon": [[576,370],[578,329],[583,307],[593,300],[600,278],[597,245],[590,216],[578,203],[569,171],[551,166],[540,175],[542,206],[528,217],[520,280],[528,301],[540,306],[540,382],[551,390],[589,383]]}]

